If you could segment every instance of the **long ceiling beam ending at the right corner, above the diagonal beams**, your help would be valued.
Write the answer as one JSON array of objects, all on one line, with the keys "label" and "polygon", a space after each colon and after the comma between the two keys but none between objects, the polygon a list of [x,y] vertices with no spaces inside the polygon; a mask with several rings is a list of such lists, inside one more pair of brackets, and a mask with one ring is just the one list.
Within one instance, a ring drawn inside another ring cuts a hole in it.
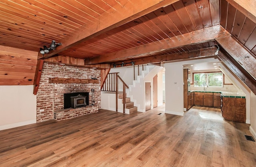
[{"label": "long ceiling beam ending at the right corner, above the diagonal beams", "polygon": [[[143,56],[144,54],[159,52],[162,50],[178,48],[191,44],[199,44],[214,40],[215,38],[221,38],[224,36],[230,36],[230,34],[220,25],[204,28],[180,36],[151,42],[149,44],[136,46],[126,50],[113,52],[96,58],[88,60],[88,64],[98,64],[103,62],[112,62],[118,59],[129,58],[132,56]],[[87,63],[87,62],[86,62]]]}]

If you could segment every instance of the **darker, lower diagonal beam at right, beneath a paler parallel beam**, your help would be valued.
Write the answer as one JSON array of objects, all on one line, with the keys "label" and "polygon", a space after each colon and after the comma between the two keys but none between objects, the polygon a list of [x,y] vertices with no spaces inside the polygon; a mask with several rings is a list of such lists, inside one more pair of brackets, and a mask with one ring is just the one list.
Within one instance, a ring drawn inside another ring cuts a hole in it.
[{"label": "darker, lower diagonal beam at right, beneath a paler parallel beam", "polygon": [[218,57],[254,94],[256,94],[256,81],[238,64],[238,62],[236,62],[236,60],[228,54],[218,54]]}]

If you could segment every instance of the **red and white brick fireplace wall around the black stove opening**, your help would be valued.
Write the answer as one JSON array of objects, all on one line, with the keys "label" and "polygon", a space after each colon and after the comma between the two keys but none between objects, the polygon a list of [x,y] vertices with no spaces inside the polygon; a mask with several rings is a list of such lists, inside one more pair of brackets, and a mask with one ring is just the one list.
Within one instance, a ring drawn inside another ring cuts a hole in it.
[{"label": "red and white brick fireplace wall around the black stove opening", "polygon": [[[96,77],[99,83],[49,83],[49,78],[91,79]],[[91,89],[94,89],[94,105]],[[75,109],[64,109],[64,93],[88,92],[89,104]],[[51,119],[63,120],[98,112],[100,108],[100,70],[62,66],[44,62],[40,85],[36,95],[36,121]]]}]

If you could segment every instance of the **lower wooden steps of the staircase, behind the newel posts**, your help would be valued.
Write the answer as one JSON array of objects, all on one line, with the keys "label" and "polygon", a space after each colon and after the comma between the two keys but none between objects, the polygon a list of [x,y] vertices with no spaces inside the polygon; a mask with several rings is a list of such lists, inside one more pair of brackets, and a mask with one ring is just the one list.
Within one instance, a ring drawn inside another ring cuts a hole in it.
[{"label": "lower wooden steps of the staircase, behind the newel posts", "polygon": [[[122,101],[122,102],[121,102]],[[130,97],[127,97],[125,98],[125,113],[126,114],[132,114],[132,113],[136,113],[138,110],[137,110],[137,107],[134,106],[134,102],[131,101],[131,98]],[[122,110],[123,108],[123,92],[121,91],[118,91],[118,105],[120,105],[120,107],[118,107],[118,110],[120,108],[120,110]],[[122,110],[123,111],[123,110]]]}]

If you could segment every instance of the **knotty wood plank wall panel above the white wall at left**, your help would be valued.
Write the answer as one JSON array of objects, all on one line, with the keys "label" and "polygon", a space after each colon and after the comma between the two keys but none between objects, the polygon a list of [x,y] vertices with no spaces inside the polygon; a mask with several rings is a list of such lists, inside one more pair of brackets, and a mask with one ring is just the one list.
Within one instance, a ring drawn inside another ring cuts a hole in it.
[{"label": "knotty wood plank wall panel above the white wall at left", "polygon": [[0,46],[0,85],[33,85],[38,52]]}]

